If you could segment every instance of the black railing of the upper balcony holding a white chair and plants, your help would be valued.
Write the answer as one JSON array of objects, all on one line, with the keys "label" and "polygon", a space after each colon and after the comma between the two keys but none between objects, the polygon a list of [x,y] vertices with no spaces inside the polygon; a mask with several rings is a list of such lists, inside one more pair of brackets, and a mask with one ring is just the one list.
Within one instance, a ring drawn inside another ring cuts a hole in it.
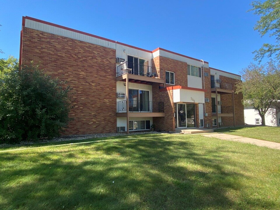
[{"label": "black railing of the upper balcony holding a white chair and plants", "polygon": [[163,76],[163,70],[156,67],[145,66],[141,64],[135,64],[132,62],[124,62],[117,67],[117,76],[121,76],[126,73],[135,74],[146,77],[157,77]]}]

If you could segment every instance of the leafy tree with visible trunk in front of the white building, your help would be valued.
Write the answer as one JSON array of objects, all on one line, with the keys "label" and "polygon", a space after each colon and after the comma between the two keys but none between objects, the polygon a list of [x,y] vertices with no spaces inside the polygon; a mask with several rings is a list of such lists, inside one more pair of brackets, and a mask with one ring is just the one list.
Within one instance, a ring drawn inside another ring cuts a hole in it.
[{"label": "leafy tree with visible trunk in front of the white building", "polygon": [[265,125],[265,113],[280,97],[280,65],[270,61],[257,66],[251,63],[241,71],[242,81],[237,83],[236,93],[243,94],[243,105],[258,109]]}]

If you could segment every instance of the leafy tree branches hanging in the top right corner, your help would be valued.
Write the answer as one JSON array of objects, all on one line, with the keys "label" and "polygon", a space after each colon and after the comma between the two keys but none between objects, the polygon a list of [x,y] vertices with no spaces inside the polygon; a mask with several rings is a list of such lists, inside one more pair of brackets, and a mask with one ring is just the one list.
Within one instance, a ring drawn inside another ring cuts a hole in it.
[{"label": "leafy tree branches hanging in the top right corner", "polygon": [[255,15],[261,16],[255,24],[254,30],[258,31],[261,36],[270,33],[269,37],[276,37],[276,44],[264,43],[259,50],[253,52],[254,60],[261,62],[265,55],[272,57],[274,54],[275,59],[280,60],[280,1],[253,1],[250,5],[253,8],[249,11],[254,11]]}]

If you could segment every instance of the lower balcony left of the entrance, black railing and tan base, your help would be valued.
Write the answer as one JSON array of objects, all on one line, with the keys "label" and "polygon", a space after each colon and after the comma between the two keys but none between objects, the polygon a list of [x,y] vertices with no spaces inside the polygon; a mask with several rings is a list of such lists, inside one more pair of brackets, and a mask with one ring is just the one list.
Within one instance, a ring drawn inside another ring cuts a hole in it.
[{"label": "lower balcony left of the entrance, black railing and tan base", "polygon": [[[118,101],[117,117],[126,117],[126,100]],[[154,101],[129,100],[129,117],[164,117],[164,104]]]}]

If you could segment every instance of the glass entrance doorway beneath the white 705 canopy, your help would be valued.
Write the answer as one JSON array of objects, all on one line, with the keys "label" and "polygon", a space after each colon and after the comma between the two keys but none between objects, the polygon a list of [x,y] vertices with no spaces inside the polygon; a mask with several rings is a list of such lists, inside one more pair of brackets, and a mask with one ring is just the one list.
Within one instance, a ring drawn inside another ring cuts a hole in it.
[{"label": "glass entrance doorway beneath the white 705 canopy", "polygon": [[177,104],[177,127],[195,127],[195,104]]}]

